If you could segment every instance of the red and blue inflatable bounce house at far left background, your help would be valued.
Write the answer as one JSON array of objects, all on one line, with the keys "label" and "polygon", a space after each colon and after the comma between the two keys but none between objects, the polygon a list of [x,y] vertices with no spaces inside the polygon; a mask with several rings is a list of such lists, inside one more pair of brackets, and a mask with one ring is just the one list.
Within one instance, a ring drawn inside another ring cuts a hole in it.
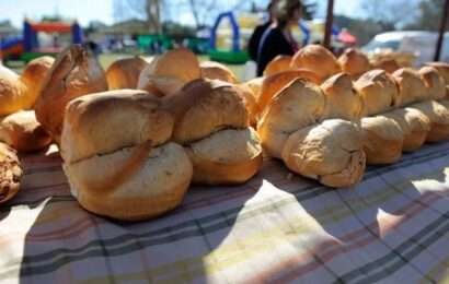
[{"label": "red and blue inflatable bounce house at far left background", "polygon": [[0,43],[0,57],[3,60],[22,60],[28,62],[34,58],[49,55],[55,56],[62,47],[54,43],[51,46],[41,46],[38,33],[45,34],[71,34],[72,44],[82,43],[82,29],[74,23],[42,22],[32,23],[27,20],[23,23],[23,36],[7,38]]}]

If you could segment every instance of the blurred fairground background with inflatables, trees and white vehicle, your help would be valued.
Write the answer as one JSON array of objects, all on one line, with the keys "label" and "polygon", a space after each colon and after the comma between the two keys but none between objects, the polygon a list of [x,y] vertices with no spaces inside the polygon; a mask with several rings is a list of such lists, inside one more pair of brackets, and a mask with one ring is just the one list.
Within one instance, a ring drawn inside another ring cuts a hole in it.
[{"label": "blurred fairground background with inflatables, trees and white vehicle", "polygon": [[[303,0],[293,32],[301,46],[322,43],[327,1]],[[268,1],[14,0],[0,1],[0,58],[21,69],[73,43],[91,47],[104,68],[134,55],[185,46],[202,60],[227,63],[240,76],[247,40],[266,17]],[[370,57],[393,55],[403,66],[431,61],[445,0],[335,0],[332,50],[358,47]],[[447,25],[449,26],[449,25]],[[440,61],[449,61],[449,33]]]}]

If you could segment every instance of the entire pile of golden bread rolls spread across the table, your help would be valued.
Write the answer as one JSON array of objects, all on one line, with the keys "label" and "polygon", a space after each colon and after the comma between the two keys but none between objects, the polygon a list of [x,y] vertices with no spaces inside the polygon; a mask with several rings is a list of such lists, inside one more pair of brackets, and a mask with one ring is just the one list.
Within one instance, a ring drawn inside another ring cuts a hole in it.
[{"label": "entire pile of golden bread rolls spread across the table", "polygon": [[[446,63],[389,74],[356,50],[336,60],[308,46],[240,83],[183,48],[106,71],[77,45],[53,61],[36,59],[22,76],[0,69],[0,140],[20,152],[55,142],[79,203],[113,218],[158,216],[191,184],[245,182],[263,152],[348,187],[366,163],[394,163],[402,151],[449,138]],[[1,146],[0,190],[10,199],[22,171],[14,150]]]}]

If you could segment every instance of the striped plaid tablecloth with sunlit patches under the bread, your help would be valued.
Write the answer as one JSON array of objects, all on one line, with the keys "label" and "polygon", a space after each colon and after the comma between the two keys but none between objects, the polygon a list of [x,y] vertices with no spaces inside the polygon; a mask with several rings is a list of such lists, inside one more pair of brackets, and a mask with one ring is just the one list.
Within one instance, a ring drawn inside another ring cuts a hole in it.
[{"label": "striped plaid tablecloth with sunlit patches under the bread", "polygon": [[192,188],[141,223],[82,210],[57,154],[23,164],[0,214],[4,283],[449,282],[449,143],[341,190],[265,161],[246,185]]}]

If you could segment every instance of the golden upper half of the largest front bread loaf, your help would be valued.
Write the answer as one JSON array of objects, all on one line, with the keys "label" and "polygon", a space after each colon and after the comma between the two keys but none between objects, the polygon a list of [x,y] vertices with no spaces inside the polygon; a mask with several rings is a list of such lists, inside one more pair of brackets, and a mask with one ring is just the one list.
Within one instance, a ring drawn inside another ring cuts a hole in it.
[{"label": "golden upper half of the largest front bread loaf", "polygon": [[64,159],[74,163],[146,141],[152,146],[165,143],[172,134],[173,118],[160,105],[157,97],[139,90],[115,90],[71,100],[61,139]]}]

